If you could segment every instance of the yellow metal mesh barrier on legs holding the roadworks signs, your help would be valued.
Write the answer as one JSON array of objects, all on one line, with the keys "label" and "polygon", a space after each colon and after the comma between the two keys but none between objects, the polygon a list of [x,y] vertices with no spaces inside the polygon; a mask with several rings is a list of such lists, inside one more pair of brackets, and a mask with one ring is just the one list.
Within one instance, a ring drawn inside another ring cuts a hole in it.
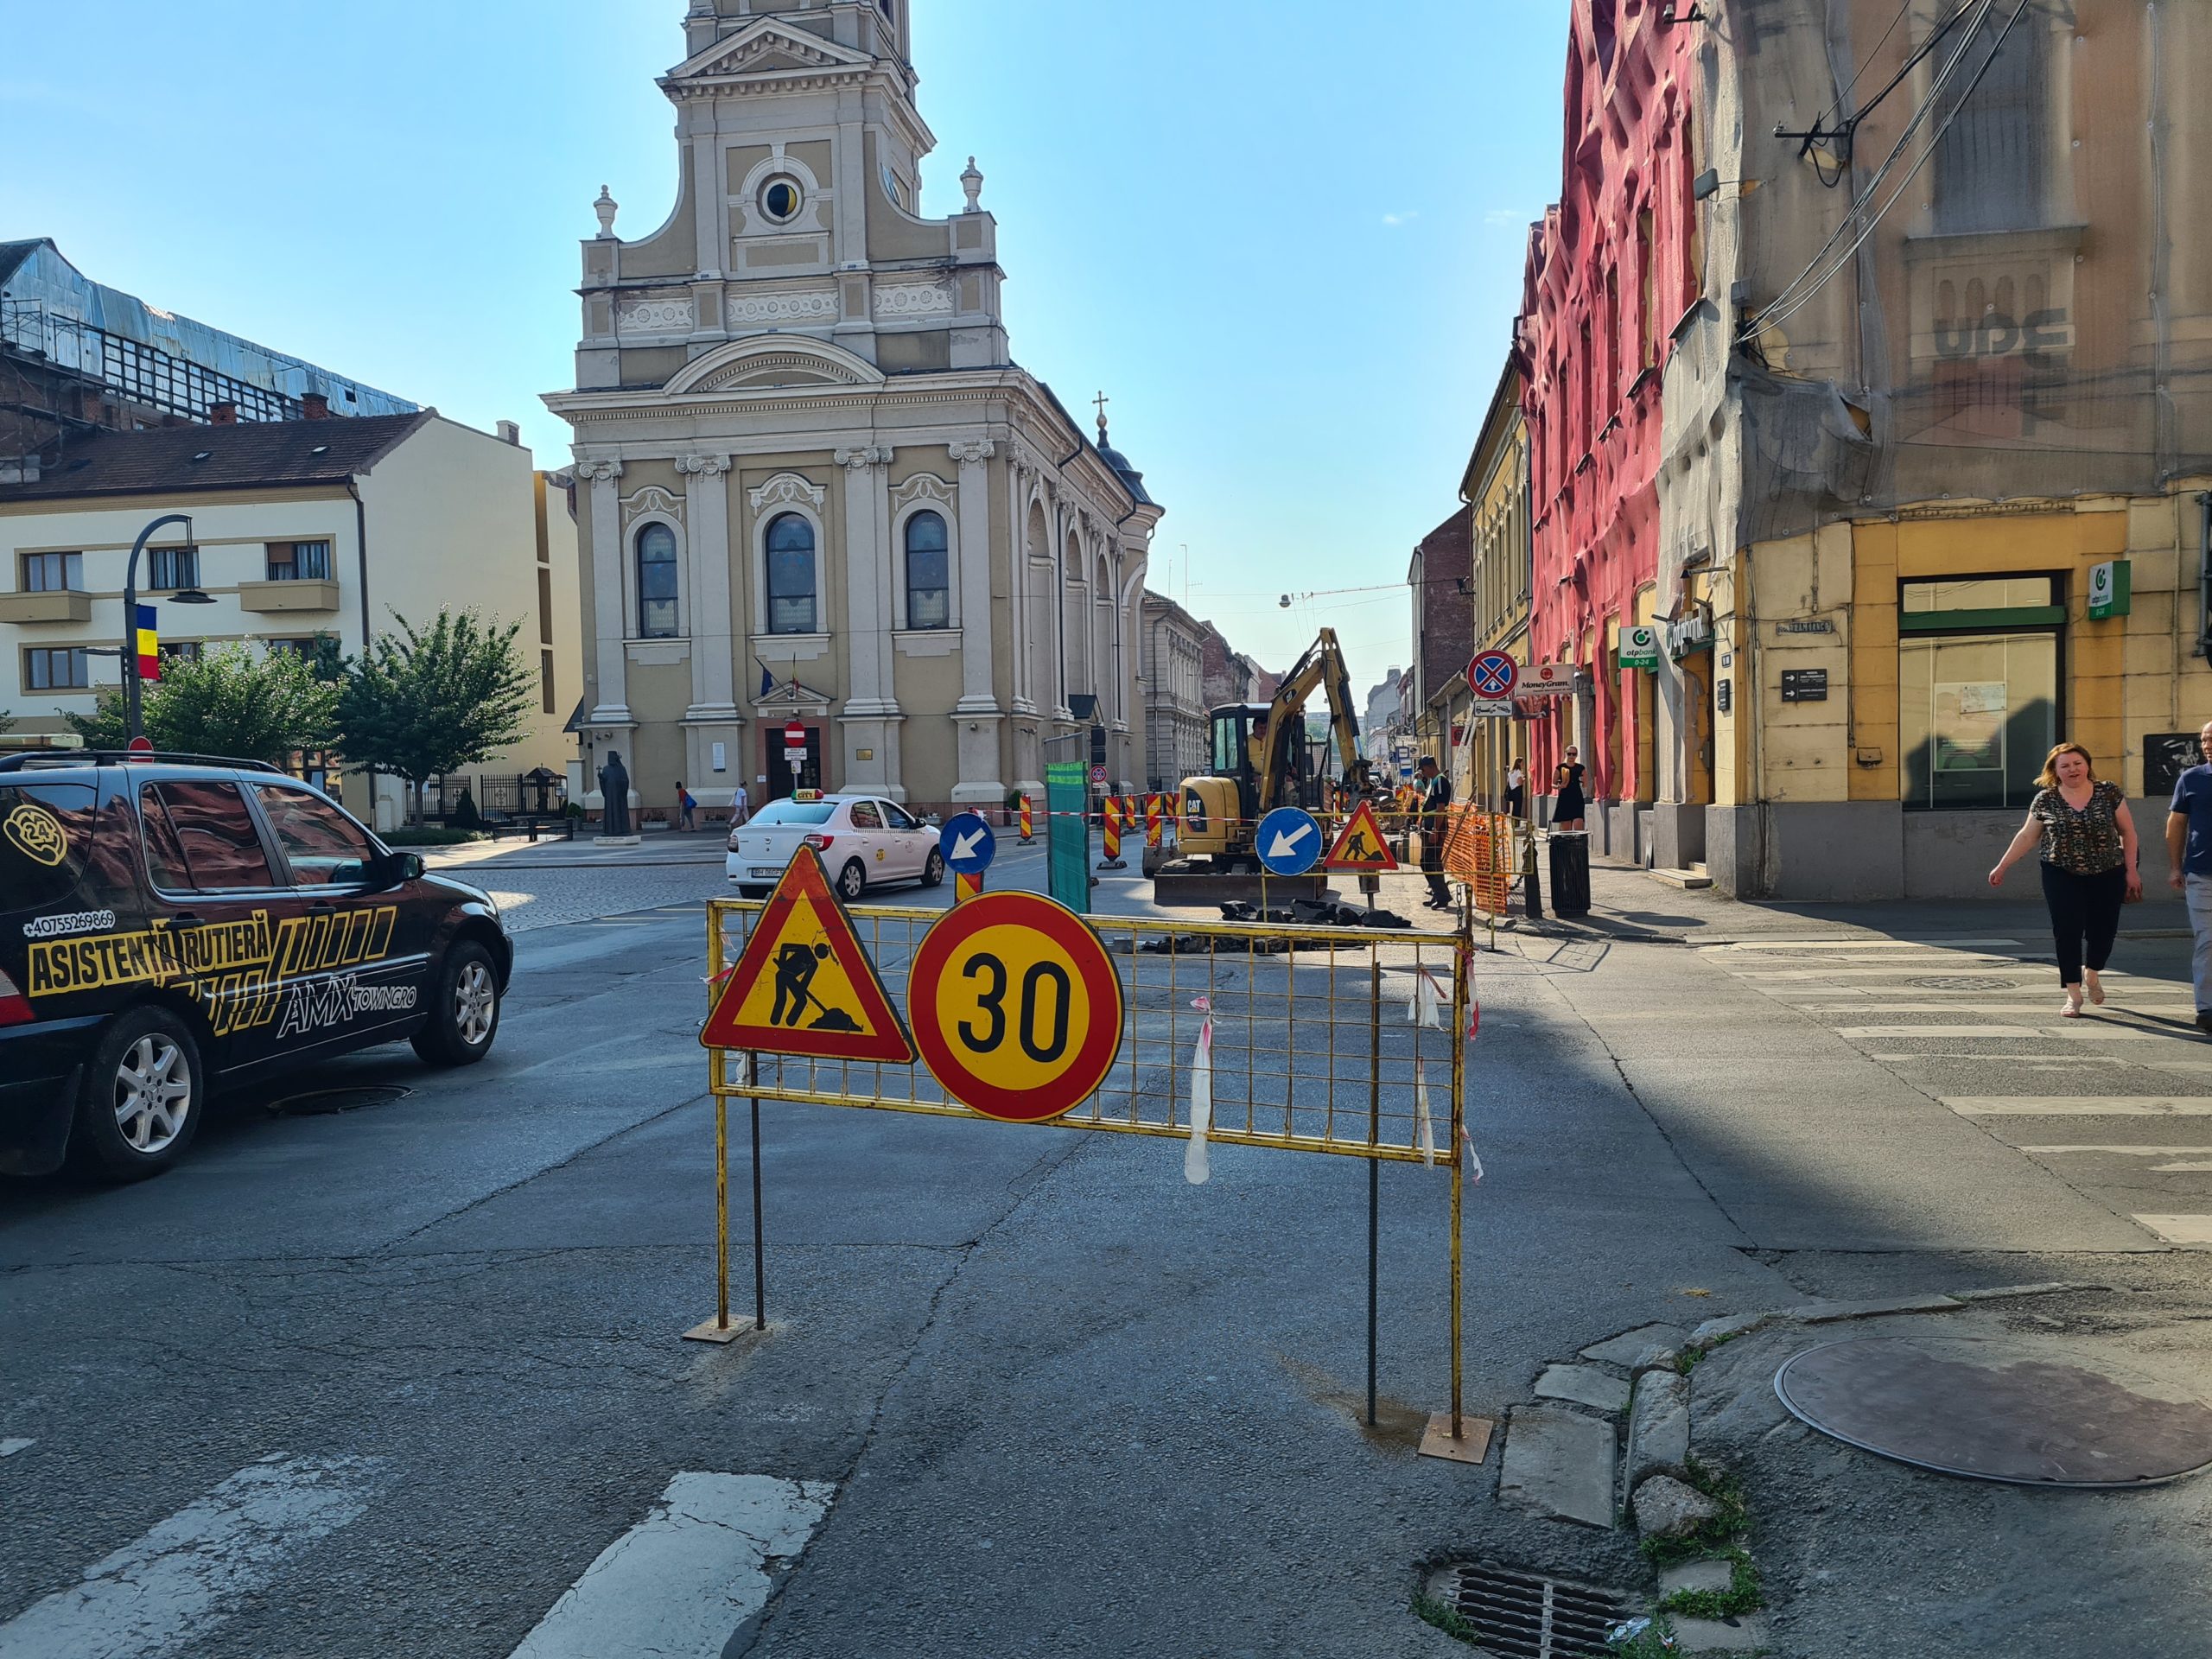
[{"label": "yellow metal mesh barrier on legs holding the roadworks signs", "polygon": [[[743,953],[761,902],[708,900],[708,978]],[[947,911],[849,907],[891,1000],[907,993],[922,936]],[[1462,1433],[1460,1199],[1471,938],[1411,929],[1267,927],[1179,918],[1086,916],[1121,980],[1121,1046],[1106,1082],[1044,1128],[1190,1139],[1192,1060],[1212,1020],[1208,1146],[1265,1146],[1442,1166],[1451,1181],[1451,1413],[1431,1425],[1438,1455],[1480,1462],[1489,1425]],[[1194,1006],[1203,1004],[1203,1006]],[[728,1102],[752,1102],[754,1325],[761,1292],[759,1102],[978,1119],[922,1064],[708,1051],[714,1095],[719,1318],[695,1336],[728,1340]],[[1369,1208],[1369,1250],[1374,1208]],[[1374,1259],[1369,1254],[1369,1396],[1374,1394]],[[1371,1402],[1369,1402],[1371,1411]],[[1469,1429],[1478,1425],[1467,1425]]]}]

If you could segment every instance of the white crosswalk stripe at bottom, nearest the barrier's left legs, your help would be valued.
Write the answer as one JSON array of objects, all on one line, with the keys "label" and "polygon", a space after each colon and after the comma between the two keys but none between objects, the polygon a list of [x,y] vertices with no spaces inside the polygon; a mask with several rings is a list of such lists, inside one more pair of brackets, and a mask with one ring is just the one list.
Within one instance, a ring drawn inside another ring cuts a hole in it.
[{"label": "white crosswalk stripe at bottom, nearest the barrier's left legs", "polygon": [[770,1562],[814,1535],[834,1486],[772,1475],[681,1473],[522,1639],[513,1659],[719,1659],[768,1601]]}]

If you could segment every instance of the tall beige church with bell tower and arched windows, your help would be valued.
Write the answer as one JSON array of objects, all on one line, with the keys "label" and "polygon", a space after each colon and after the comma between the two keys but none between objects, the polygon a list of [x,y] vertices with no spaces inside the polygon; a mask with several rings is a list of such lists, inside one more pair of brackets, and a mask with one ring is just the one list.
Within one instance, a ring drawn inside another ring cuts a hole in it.
[{"label": "tall beige church with bell tower and arched windows", "polygon": [[[911,0],[690,0],[677,201],[584,243],[575,431],[586,776],[644,807],[796,783],[916,807],[1146,776],[1161,509],[1018,367],[998,226],[918,212]],[[785,728],[807,734],[794,774]]]}]

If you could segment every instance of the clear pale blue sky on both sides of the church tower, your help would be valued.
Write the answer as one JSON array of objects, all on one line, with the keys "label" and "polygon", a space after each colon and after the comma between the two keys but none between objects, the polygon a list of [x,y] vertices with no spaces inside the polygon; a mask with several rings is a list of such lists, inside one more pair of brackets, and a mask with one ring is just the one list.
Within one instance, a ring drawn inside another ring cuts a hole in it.
[{"label": "clear pale blue sky on both sides of the church tower", "polygon": [[[566,427],[577,239],[675,190],[681,0],[108,0],[7,27],[0,239],[489,427]],[[1557,195],[1566,0],[918,0],[927,212],[973,153],[1013,352],[1168,507],[1150,582],[1283,668],[1402,661]],[[1188,555],[1183,546],[1188,544]],[[1383,591],[1332,593],[1380,586]],[[1305,595],[1290,611],[1281,593]]]}]

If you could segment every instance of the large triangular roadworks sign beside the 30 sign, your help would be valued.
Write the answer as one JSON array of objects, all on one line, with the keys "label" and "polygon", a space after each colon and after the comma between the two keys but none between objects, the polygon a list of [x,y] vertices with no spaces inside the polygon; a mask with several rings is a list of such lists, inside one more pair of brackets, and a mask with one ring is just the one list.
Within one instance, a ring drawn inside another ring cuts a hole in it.
[{"label": "large triangular roadworks sign beside the 30 sign", "polygon": [[830,891],[812,847],[792,854],[699,1029],[708,1048],[914,1064],[914,1037]]}]

